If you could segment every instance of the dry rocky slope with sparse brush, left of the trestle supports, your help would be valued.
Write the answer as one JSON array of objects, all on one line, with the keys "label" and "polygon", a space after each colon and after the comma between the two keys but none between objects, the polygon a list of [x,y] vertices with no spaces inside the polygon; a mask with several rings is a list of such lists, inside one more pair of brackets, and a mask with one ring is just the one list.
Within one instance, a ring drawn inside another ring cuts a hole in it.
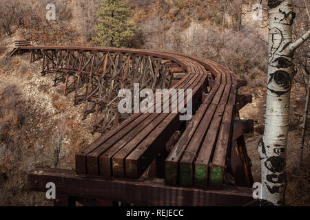
[{"label": "dry rocky slope with sparse brush, left of the trestle supports", "polygon": [[41,194],[28,192],[26,173],[36,165],[72,169],[75,153],[98,137],[92,119],[81,120],[83,107],[40,67],[28,54],[1,59],[0,206],[42,205]]}]

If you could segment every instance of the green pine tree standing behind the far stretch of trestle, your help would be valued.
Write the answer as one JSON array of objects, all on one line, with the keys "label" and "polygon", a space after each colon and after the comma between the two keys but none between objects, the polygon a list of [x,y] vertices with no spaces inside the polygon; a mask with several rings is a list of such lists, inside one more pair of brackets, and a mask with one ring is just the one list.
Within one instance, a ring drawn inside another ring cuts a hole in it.
[{"label": "green pine tree standing behind the far stretch of trestle", "polygon": [[130,47],[136,28],[130,21],[132,15],[127,1],[102,0],[97,14],[99,19],[94,41],[107,47]]}]

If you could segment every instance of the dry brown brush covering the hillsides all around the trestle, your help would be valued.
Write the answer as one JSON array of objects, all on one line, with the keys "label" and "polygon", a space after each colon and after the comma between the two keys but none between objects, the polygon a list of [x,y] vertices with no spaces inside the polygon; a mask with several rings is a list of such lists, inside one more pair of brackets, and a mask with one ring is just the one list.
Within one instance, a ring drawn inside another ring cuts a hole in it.
[{"label": "dry brown brush covering the hillsides all around the trestle", "polygon": [[[129,5],[139,28],[132,47],[210,58],[248,81],[240,92],[254,94],[254,103],[243,109],[241,116],[255,121],[255,133],[247,140],[247,147],[256,181],[260,175],[256,144],[264,129],[268,55],[267,23],[252,21],[253,11],[248,5],[258,2],[133,0]],[[294,2],[296,38],[309,29],[309,21],[303,1]],[[56,3],[56,21],[45,19],[47,3]],[[96,45],[92,36],[99,3],[100,0],[0,0],[0,58],[14,40],[25,38],[37,45]],[[262,3],[267,8],[266,1]],[[10,61],[2,59],[0,64],[0,205],[43,204],[42,195],[28,192],[28,170],[36,164],[73,168],[74,153],[95,138],[88,133],[90,122],[81,121],[81,109],[72,107],[72,97],[64,98],[61,89],[51,86],[49,76],[41,77],[37,63],[27,63],[27,57],[21,56]],[[298,73],[291,94],[288,149],[292,153],[288,158],[287,192],[287,204],[292,206],[309,205],[304,177],[309,175],[309,133],[304,150],[306,168],[300,170],[298,157],[293,156],[300,143],[309,42],[298,49],[295,63]]]}]

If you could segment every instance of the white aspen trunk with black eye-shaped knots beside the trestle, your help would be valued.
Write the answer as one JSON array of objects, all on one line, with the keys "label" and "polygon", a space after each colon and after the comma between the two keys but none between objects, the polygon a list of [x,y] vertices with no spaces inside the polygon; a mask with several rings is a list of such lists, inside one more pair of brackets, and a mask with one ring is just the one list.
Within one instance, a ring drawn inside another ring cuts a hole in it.
[{"label": "white aspen trunk with black eye-shaped knots beside the trestle", "polygon": [[268,0],[269,61],[265,131],[258,143],[261,163],[262,206],[284,206],[293,52],[309,38],[308,31],[292,43],[295,13],[292,0]]}]

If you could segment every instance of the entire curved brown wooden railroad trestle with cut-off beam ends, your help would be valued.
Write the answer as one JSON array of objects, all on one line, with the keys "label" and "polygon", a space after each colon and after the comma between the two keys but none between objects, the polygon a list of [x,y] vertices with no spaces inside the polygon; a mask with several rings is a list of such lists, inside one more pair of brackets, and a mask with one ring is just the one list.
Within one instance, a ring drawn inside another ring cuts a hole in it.
[{"label": "entire curved brown wooden railroad trestle with cut-off beam ends", "polygon": [[[253,120],[238,111],[251,95],[226,67],[205,58],[172,52],[105,47],[32,47],[30,63],[74,92],[74,104],[94,113],[94,132],[103,135],[76,154],[76,170],[31,170],[31,190],[56,184],[55,205],[102,204],[103,199],[146,205],[242,206],[255,203],[243,134]],[[16,54],[19,54],[16,50]],[[171,100],[167,113],[132,113],[119,122],[119,89],[192,89],[191,121],[179,120]]]}]

